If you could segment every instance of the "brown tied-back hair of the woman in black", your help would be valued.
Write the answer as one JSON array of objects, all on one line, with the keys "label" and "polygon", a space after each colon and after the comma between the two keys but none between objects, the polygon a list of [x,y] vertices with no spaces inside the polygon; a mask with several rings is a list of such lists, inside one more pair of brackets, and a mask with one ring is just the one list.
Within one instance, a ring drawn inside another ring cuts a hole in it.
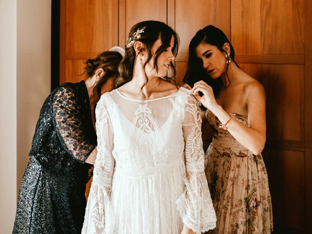
[{"label": "brown tied-back hair of the woman in black", "polygon": [[87,59],[85,61],[85,73],[88,77],[94,76],[99,68],[102,68],[105,73],[99,78],[98,82],[93,87],[93,94],[95,97],[101,96],[101,88],[109,78],[115,80],[119,77],[118,66],[122,59],[122,55],[118,52],[105,51],[97,56],[95,59]]}]

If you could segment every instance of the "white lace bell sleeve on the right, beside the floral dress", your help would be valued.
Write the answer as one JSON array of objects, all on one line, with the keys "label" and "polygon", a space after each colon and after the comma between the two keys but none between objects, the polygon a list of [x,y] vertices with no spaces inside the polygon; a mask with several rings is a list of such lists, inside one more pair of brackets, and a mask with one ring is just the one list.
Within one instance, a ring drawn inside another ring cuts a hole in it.
[{"label": "white lace bell sleeve on the right, beside the floral dress", "polygon": [[185,192],[176,201],[183,223],[196,233],[215,228],[216,216],[204,173],[200,108],[190,96],[183,120],[186,177]]}]

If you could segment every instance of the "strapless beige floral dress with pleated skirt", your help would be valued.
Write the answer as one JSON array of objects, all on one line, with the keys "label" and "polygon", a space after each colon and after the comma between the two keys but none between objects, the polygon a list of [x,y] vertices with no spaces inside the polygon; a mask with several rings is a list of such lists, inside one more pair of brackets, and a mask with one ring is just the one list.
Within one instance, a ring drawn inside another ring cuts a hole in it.
[{"label": "strapless beige floral dress with pleated skirt", "polygon": [[[248,126],[248,117],[230,113]],[[261,155],[253,155],[206,111],[215,130],[206,159],[206,176],[217,217],[209,234],[269,234],[273,230],[268,175]]]}]

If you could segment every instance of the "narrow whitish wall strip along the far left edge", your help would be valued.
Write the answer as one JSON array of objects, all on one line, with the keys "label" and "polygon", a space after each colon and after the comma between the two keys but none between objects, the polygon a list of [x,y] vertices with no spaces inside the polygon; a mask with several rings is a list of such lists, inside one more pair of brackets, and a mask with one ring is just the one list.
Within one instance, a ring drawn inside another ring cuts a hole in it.
[{"label": "narrow whitish wall strip along the far left edge", "polygon": [[0,229],[12,233],[17,186],[17,0],[0,0]]}]

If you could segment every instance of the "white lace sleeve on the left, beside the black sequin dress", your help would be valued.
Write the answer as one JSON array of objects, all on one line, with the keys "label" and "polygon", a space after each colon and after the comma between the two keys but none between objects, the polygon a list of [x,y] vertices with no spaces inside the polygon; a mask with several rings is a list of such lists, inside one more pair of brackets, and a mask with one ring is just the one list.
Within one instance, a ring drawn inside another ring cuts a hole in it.
[{"label": "white lace sleeve on the left, beside the black sequin dress", "polygon": [[115,159],[112,155],[114,135],[103,96],[96,108],[98,154],[88,197],[82,234],[112,234],[114,212],[110,203]]}]

